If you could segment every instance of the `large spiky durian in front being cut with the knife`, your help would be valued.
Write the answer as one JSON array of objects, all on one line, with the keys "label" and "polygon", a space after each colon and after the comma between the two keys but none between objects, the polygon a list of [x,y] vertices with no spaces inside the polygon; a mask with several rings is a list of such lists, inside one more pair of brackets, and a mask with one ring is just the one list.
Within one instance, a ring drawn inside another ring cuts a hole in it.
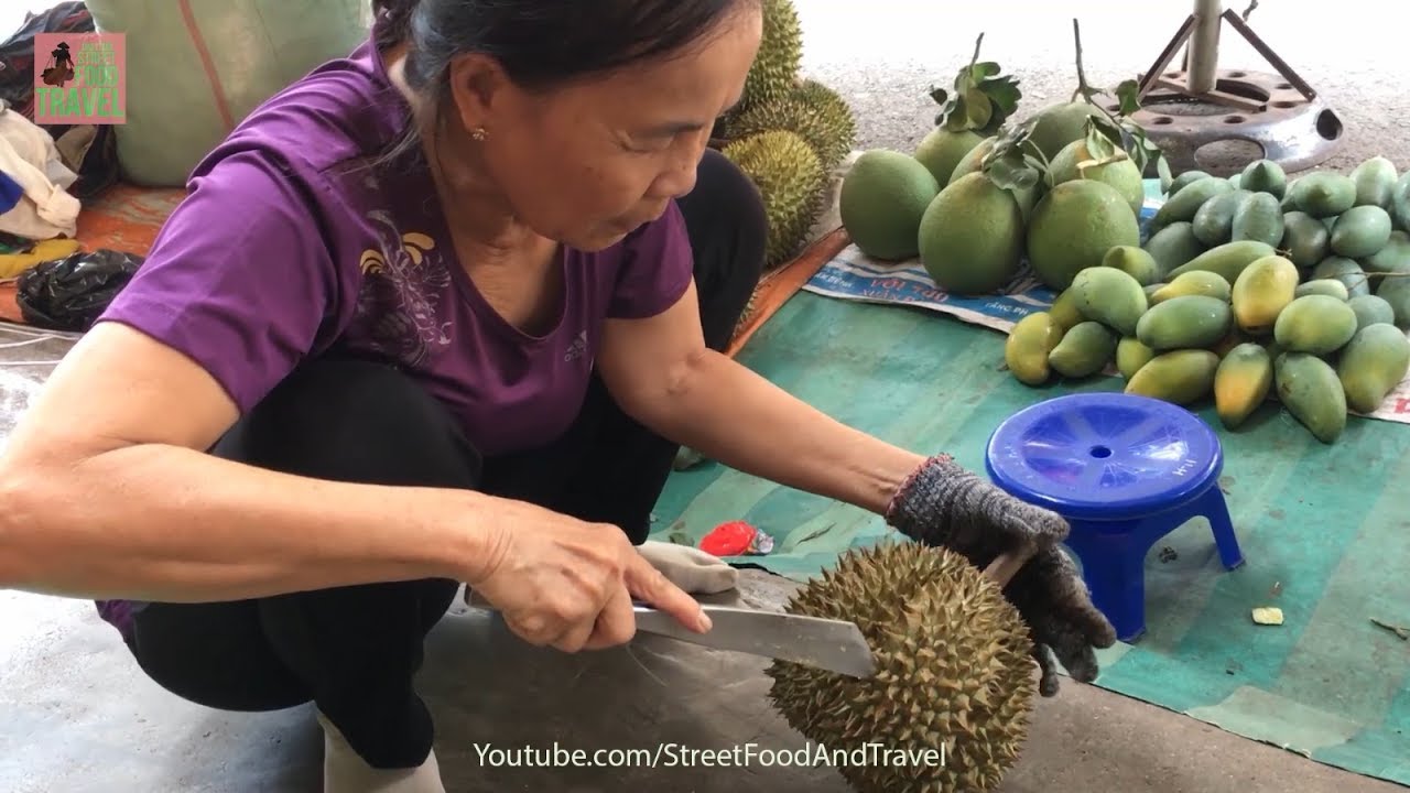
[{"label": "large spiky durian in front being cut with the knife", "polygon": [[852,549],[785,608],[854,621],[871,645],[867,679],[768,667],[770,700],[788,724],[830,756],[867,761],[838,766],[857,790],[993,790],[1017,762],[1036,691],[1032,639],[963,556],[908,540]]}]

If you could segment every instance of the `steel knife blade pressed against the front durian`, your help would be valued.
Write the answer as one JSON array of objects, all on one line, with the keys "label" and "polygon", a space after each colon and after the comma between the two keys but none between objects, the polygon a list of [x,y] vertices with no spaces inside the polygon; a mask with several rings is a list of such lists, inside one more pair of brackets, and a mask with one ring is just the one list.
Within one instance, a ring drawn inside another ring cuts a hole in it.
[{"label": "steel knife blade pressed against the front durian", "polygon": [[702,604],[701,608],[712,622],[704,634],[649,605],[634,607],[636,628],[712,649],[801,663],[852,677],[876,673],[871,645],[854,622],[736,605]]}]

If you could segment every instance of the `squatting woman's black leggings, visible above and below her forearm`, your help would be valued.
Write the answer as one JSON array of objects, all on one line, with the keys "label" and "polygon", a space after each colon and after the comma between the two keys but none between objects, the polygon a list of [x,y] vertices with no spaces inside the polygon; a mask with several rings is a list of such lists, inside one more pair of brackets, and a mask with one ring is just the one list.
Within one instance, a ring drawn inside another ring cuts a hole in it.
[{"label": "squatting woman's black leggings, visible above and below her forearm", "polygon": [[[706,341],[719,350],[759,281],[764,216],[753,185],[706,152],[681,200]],[[286,378],[213,453],[252,466],[369,484],[461,487],[611,522],[634,543],[677,446],[627,418],[594,378],[568,432],[547,449],[482,459],[450,413],[391,365],[329,356]],[[133,652],[158,684],[231,711],[313,701],[372,766],[412,768],[431,748],[413,689],[426,634],[458,581],[338,587],[258,600],[151,604]]]}]

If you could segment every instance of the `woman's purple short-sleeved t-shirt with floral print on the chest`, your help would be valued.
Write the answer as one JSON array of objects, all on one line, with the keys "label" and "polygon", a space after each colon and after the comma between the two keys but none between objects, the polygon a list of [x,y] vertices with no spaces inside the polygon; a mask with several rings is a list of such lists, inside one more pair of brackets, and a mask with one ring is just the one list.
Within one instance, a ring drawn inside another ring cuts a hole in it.
[{"label": "woman's purple short-sleeved t-shirt with floral print on the chest", "polygon": [[[660,313],[685,292],[694,267],[680,209],[612,248],[563,250],[561,317],[527,336],[462,270],[430,175],[372,164],[407,111],[371,38],[272,96],[196,167],[102,320],[199,361],[241,411],[337,343],[398,360],[482,454],[558,436],[582,402],[603,320]],[[125,628],[124,604],[100,612]]]}]

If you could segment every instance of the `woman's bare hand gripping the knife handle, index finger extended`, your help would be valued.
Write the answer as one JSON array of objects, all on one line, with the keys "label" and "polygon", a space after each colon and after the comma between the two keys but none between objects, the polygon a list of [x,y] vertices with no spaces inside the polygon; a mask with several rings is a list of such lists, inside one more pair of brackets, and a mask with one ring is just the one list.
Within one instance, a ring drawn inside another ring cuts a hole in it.
[{"label": "woman's bare hand gripping the knife handle, index finger extended", "polygon": [[636,635],[633,600],[705,632],[699,603],[673,584],[618,526],[515,502],[485,573],[467,586],[526,642],[564,652],[622,645]]}]

